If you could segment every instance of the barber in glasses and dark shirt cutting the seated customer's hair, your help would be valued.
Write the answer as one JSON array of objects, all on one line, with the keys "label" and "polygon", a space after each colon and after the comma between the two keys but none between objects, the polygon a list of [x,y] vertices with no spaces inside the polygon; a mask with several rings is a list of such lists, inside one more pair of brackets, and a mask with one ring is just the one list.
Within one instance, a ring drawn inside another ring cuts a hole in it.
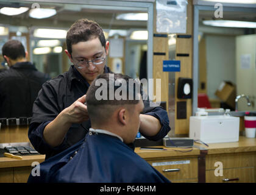
[{"label": "barber in glasses and dark shirt cutting the seated customer's hair", "polygon": [[[73,65],[68,72],[44,83],[29,127],[30,142],[46,158],[85,137],[91,127],[85,94],[99,74],[111,73],[106,65],[109,42],[98,23],[77,20],[68,30],[66,45],[65,52]],[[140,133],[149,140],[160,140],[170,130],[167,112],[157,105],[149,106],[148,100],[143,103]]]}]

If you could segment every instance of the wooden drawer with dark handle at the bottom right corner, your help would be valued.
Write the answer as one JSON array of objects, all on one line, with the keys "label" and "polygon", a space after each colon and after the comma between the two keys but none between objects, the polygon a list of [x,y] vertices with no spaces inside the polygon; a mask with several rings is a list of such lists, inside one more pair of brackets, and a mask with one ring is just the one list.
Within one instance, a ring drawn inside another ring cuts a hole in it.
[{"label": "wooden drawer with dark handle at the bottom right corner", "polygon": [[215,176],[215,170],[205,172],[207,183],[254,183],[254,167],[223,169],[222,176]]}]

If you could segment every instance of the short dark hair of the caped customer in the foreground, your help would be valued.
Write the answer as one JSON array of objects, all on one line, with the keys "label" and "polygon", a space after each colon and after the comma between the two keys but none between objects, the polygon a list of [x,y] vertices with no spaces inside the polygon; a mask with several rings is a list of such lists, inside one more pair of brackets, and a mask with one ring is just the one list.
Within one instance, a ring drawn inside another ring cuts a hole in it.
[{"label": "short dark hair of the caped customer in the foreground", "polygon": [[[102,82],[102,80],[105,82]],[[126,89],[126,91],[120,90],[121,87],[124,87],[123,89]],[[103,97],[102,93],[104,92],[102,91],[104,90],[105,92],[107,91],[107,97],[99,99],[99,96]],[[132,79],[123,74],[100,74],[91,83],[86,96],[87,109],[91,122],[97,121],[99,123],[107,121],[118,107],[126,107],[130,112],[133,112],[133,105],[138,104],[141,99],[140,90],[140,82],[137,79]],[[117,96],[116,94],[120,94],[121,96]]]}]

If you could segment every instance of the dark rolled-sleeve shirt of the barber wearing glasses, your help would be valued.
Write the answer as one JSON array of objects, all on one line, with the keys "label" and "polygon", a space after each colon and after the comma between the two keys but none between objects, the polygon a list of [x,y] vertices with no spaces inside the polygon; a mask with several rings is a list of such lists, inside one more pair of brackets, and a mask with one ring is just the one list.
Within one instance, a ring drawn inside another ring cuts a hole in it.
[{"label": "dark rolled-sleeve shirt of the barber wearing glasses", "polygon": [[[111,73],[107,66],[104,67],[104,73]],[[90,120],[82,124],[73,124],[69,128],[68,133],[66,133],[63,143],[57,147],[49,146],[43,138],[44,127],[54,120],[62,110],[86,94],[89,86],[89,83],[72,65],[68,72],[60,74],[58,77],[44,83],[39,91],[34,103],[32,121],[29,126],[29,140],[40,154],[46,154],[46,158],[52,157],[73,146],[73,144],[82,140],[87,134],[88,129],[90,129]],[[162,107],[149,107],[149,101],[147,100],[143,102],[143,113],[159,119],[162,129],[154,137],[142,135],[149,140],[160,140],[170,130],[167,112]]]}]

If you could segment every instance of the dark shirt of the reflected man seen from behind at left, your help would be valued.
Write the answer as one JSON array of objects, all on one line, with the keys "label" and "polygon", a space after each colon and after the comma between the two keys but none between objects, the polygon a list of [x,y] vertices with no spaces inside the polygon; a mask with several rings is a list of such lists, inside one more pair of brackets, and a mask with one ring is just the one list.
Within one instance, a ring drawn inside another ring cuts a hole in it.
[{"label": "dark shirt of the reflected man seen from behind at left", "polygon": [[0,118],[31,117],[38,91],[48,74],[30,62],[18,62],[0,73]]}]

